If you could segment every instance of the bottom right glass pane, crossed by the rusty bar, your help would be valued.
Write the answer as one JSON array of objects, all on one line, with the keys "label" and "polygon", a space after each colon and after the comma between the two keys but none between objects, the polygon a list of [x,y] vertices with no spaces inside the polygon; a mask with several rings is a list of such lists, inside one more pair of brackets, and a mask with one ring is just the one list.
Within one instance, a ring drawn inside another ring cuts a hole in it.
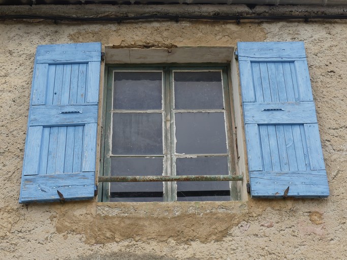
[{"label": "bottom right glass pane, crossed by the rusty bar", "polygon": [[[228,175],[228,157],[177,158],[177,175]],[[230,201],[229,181],[177,182],[177,201]]]}]

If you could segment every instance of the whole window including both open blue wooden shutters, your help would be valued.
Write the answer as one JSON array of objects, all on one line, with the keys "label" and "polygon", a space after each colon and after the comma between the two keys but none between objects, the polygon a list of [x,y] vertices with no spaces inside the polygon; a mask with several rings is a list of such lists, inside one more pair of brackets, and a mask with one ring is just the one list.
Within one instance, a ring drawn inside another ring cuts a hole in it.
[{"label": "whole window including both open blue wooden shutters", "polygon": [[[103,201],[110,191],[111,201],[236,200],[245,183],[229,180],[242,180],[246,168],[251,197],[329,196],[303,42],[243,42],[237,49],[238,65],[232,47],[149,49],[146,55],[110,49],[106,62],[232,65],[110,68],[102,120],[101,44],[38,46],[19,202],[93,199],[97,129],[104,121]],[[179,182],[104,183],[123,174]],[[210,182],[182,181],[201,174],[212,176]]]}]

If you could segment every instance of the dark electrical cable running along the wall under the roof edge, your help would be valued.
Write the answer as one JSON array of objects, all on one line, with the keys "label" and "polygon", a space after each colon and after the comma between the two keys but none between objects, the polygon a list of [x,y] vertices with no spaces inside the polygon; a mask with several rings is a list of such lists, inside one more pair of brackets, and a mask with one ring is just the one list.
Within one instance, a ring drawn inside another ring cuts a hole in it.
[{"label": "dark electrical cable running along the wall under the roof edge", "polygon": [[241,20],[319,20],[319,19],[347,19],[347,15],[304,15],[304,16],[193,16],[193,15],[140,15],[124,17],[73,17],[73,16],[41,16],[41,15],[0,15],[0,20],[15,19],[40,19],[57,21],[91,21],[91,22],[123,22],[137,20],[212,20],[212,21],[236,21]]}]

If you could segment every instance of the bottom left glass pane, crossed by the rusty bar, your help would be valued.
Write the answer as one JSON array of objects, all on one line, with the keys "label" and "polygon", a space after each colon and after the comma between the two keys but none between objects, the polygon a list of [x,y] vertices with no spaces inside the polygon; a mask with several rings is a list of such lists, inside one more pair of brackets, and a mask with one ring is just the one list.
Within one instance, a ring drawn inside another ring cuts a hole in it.
[{"label": "bottom left glass pane, crossed by the rusty bar", "polygon": [[[163,157],[111,158],[112,176],[162,175]],[[163,182],[111,182],[110,201],[163,201]]]}]

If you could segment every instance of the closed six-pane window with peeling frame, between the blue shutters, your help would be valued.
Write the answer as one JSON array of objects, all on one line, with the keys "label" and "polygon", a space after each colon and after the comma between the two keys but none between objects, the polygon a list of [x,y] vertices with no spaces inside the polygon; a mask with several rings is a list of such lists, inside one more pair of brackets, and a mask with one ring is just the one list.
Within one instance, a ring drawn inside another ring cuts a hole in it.
[{"label": "closed six-pane window with peeling frame, between the blue shutters", "polygon": [[[227,67],[108,69],[104,175],[235,175]],[[228,201],[230,181],[104,183],[104,199]]]}]

